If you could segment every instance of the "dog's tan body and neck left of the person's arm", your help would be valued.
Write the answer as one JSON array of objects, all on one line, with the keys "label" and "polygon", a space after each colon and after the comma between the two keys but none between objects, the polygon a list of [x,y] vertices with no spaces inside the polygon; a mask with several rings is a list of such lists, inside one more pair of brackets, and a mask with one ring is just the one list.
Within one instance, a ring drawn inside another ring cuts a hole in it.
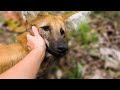
[{"label": "dog's tan body and neck left of the person's arm", "polygon": [[3,73],[22,58],[24,58],[29,50],[27,48],[26,32],[17,36],[16,43],[9,45],[0,44],[0,73]]}]

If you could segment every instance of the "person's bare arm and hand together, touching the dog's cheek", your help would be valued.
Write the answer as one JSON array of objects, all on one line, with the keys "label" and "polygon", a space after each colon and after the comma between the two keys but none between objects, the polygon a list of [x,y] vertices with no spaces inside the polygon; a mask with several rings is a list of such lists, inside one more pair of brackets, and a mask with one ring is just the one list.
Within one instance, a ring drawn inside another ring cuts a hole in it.
[{"label": "person's bare arm and hand together, touching the dog's cheek", "polygon": [[32,27],[34,36],[27,34],[27,45],[31,52],[19,63],[0,75],[0,79],[35,79],[44,59],[46,45],[38,29]]}]

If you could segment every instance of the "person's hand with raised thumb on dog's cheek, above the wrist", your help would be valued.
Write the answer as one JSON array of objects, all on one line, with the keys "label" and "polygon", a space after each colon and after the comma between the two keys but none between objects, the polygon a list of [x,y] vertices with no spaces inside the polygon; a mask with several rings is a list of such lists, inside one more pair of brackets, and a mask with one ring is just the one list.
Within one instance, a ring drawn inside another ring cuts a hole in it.
[{"label": "person's hand with raised thumb on dog's cheek, above the wrist", "polygon": [[40,36],[38,29],[35,26],[32,26],[32,31],[34,36],[27,34],[27,45],[30,50],[37,49],[45,51],[46,45],[44,39]]}]

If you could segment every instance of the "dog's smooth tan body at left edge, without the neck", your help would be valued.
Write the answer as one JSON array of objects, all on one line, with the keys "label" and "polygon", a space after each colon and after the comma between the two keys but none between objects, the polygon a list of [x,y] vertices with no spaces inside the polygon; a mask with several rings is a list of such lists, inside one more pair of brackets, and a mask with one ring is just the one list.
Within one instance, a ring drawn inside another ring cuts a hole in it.
[{"label": "dog's smooth tan body at left edge, without the neck", "polygon": [[0,45],[0,73],[22,60],[27,53],[19,43]]}]

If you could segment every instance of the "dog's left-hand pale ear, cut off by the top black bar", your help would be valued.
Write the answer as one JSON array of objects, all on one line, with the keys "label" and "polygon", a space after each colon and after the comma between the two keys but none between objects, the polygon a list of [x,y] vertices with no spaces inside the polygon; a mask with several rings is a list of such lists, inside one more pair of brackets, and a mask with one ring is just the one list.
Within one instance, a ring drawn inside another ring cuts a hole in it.
[{"label": "dog's left-hand pale ear, cut off by the top black bar", "polygon": [[27,22],[35,20],[40,14],[43,14],[43,11],[22,11],[22,17]]}]

